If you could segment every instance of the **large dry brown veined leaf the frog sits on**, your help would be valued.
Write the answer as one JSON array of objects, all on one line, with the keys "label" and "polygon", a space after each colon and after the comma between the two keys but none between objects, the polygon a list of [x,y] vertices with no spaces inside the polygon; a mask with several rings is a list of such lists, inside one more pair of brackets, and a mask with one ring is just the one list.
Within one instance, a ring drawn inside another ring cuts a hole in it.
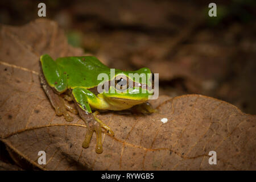
[{"label": "large dry brown veined leaf the frog sits on", "polygon": [[[104,152],[81,147],[86,126],[57,117],[38,78],[39,55],[82,55],[71,48],[57,24],[38,19],[23,27],[1,27],[0,138],[12,152],[41,169],[256,169],[255,115],[201,95],[161,96],[151,115],[99,115],[114,137],[103,135]],[[160,120],[167,118],[168,122]],[[38,164],[38,151],[47,164]],[[217,165],[208,163],[217,152]]]}]

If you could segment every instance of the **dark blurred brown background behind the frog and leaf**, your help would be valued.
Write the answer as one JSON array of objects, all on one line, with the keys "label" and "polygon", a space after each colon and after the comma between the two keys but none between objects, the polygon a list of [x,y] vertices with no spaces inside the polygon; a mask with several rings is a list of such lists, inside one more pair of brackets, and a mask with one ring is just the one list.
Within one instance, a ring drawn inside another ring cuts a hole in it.
[{"label": "dark blurred brown background behind the frog and leaf", "polygon": [[38,18],[40,2],[69,44],[109,67],[159,73],[160,95],[204,94],[256,114],[256,1],[2,0],[0,23]]}]

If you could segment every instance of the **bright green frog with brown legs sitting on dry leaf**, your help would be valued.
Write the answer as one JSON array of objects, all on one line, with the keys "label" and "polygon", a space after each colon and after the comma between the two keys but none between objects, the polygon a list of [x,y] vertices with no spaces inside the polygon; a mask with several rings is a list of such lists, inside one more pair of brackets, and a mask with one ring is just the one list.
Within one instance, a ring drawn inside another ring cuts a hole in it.
[{"label": "bright green frog with brown legs sitting on dry leaf", "polygon": [[[73,121],[70,113],[79,114],[86,125],[82,147],[89,147],[95,131],[97,154],[103,151],[102,132],[105,130],[106,134],[114,136],[113,130],[97,118],[100,111],[133,109],[143,114],[156,112],[148,102],[154,94],[154,89],[148,89],[154,86],[154,74],[149,68],[137,71],[114,69],[113,74],[113,68],[94,56],[69,56],[53,60],[47,54],[40,56],[39,64],[40,83],[55,114],[63,115],[68,122]],[[98,77],[102,73],[108,76],[103,81]],[[131,77],[136,73],[146,79]]]}]

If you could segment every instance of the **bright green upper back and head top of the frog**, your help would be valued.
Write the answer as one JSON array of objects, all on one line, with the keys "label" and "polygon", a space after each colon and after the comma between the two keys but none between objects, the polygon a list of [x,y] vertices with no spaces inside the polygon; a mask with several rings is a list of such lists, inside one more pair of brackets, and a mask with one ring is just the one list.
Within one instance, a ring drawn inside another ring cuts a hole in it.
[{"label": "bright green upper back and head top of the frog", "polygon": [[[84,88],[98,86],[103,79],[102,77],[98,79],[101,73],[104,73],[108,80],[119,73],[126,76],[129,76],[129,73],[151,73],[148,68],[141,68],[138,71],[114,69],[115,74],[110,75],[110,68],[93,56],[60,57],[54,61],[49,55],[42,55],[40,61],[48,84],[55,87],[58,92],[78,86]],[[133,80],[135,81],[135,78]],[[146,80],[142,83],[146,84]]]}]

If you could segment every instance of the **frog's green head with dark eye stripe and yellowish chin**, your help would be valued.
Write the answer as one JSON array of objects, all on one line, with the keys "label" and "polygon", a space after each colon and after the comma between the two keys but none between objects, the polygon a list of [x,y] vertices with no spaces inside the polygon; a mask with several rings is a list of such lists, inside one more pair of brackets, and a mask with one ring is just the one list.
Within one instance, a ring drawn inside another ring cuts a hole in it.
[{"label": "frog's green head with dark eye stripe and yellowish chin", "polygon": [[115,71],[115,77],[109,81],[109,89],[103,96],[109,104],[128,109],[146,102],[154,94],[154,74],[150,69],[138,71]]}]

